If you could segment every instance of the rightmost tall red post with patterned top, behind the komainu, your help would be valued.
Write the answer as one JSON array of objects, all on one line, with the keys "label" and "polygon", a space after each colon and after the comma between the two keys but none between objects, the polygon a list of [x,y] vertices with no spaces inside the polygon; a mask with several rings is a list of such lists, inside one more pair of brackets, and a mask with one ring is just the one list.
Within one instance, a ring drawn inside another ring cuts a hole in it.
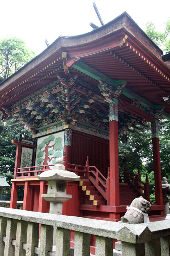
[{"label": "rightmost tall red post with patterned top, behind the komainu", "polygon": [[155,204],[163,204],[157,120],[154,120],[154,123],[151,123],[151,128],[152,128],[152,149],[153,149],[153,166],[154,166],[154,180],[155,180]]}]

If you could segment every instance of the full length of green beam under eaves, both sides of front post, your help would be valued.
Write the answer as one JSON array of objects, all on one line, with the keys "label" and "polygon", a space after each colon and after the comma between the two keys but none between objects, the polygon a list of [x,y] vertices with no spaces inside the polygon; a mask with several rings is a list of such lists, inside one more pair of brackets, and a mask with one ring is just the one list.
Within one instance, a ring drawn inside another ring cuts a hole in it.
[{"label": "full length of green beam under eaves, both sides of front post", "polygon": [[[87,65],[84,62],[77,62],[76,64],[73,65],[73,68],[81,71],[82,73],[90,76],[91,78],[98,80],[103,80],[104,82],[106,82],[109,85],[112,85],[113,87],[118,86],[120,84],[124,84],[125,80],[113,80],[111,78],[109,78],[108,76],[102,74],[100,71],[97,71],[96,69],[92,68],[91,66]],[[151,102],[145,100],[145,98],[142,98],[140,95],[137,95],[135,92],[129,90],[128,88],[124,87],[122,88],[122,92],[123,95],[125,95],[126,97],[132,99],[135,98],[136,100],[139,101],[139,103],[144,106],[144,107],[149,107],[152,110],[158,110],[160,108],[163,108],[163,105],[154,105]],[[168,115],[168,113],[167,113]],[[168,118],[168,117],[166,117]]]}]

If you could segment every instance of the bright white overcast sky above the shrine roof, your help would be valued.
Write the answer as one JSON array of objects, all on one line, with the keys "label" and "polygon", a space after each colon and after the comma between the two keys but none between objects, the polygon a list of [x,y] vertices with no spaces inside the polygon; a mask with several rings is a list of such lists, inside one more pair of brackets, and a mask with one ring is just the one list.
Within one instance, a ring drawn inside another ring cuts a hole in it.
[{"label": "bright white overcast sky above the shrine roof", "polygon": [[[73,36],[92,30],[90,22],[100,26],[93,8],[94,0],[2,0],[0,4],[0,39],[22,38],[39,54],[58,36]],[[144,31],[147,21],[153,21],[157,31],[164,30],[170,18],[170,0],[95,0],[105,23],[124,11]]]}]

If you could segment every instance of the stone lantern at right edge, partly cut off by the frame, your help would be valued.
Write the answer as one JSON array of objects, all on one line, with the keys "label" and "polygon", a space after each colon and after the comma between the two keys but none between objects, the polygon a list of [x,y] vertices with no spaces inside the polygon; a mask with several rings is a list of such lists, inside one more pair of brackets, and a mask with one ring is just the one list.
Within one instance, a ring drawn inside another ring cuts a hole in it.
[{"label": "stone lantern at right edge, partly cut off by the frame", "polygon": [[164,214],[165,216],[169,214],[169,200],[170,200],[170,185],[165,177],[162,178],[162,194],[163,194],[163,204],[165,206]]}]

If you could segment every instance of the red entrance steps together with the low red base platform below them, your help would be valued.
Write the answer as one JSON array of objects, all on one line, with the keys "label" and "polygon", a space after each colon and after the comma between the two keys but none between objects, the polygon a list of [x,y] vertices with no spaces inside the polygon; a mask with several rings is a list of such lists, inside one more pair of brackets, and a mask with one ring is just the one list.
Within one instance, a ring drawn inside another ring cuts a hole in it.
[{"label": "red entrance steps together with the low red base platform below them", "polygon": [[[120,205],[114,207],[107,205],[107,200],[104,199],[87,177],[82,178],[79,181],[79,185],[83,192],[80,204],[80,217],[85,218],[117,222],[124,216],[126,206],[129,206],[136,197],[140,197],[128,183],[119,183]],[[149,212],[150,222],[164,220],[163,209],[164,205],[152,205]],[[116,216],[116,214],[118,215]]]}]

